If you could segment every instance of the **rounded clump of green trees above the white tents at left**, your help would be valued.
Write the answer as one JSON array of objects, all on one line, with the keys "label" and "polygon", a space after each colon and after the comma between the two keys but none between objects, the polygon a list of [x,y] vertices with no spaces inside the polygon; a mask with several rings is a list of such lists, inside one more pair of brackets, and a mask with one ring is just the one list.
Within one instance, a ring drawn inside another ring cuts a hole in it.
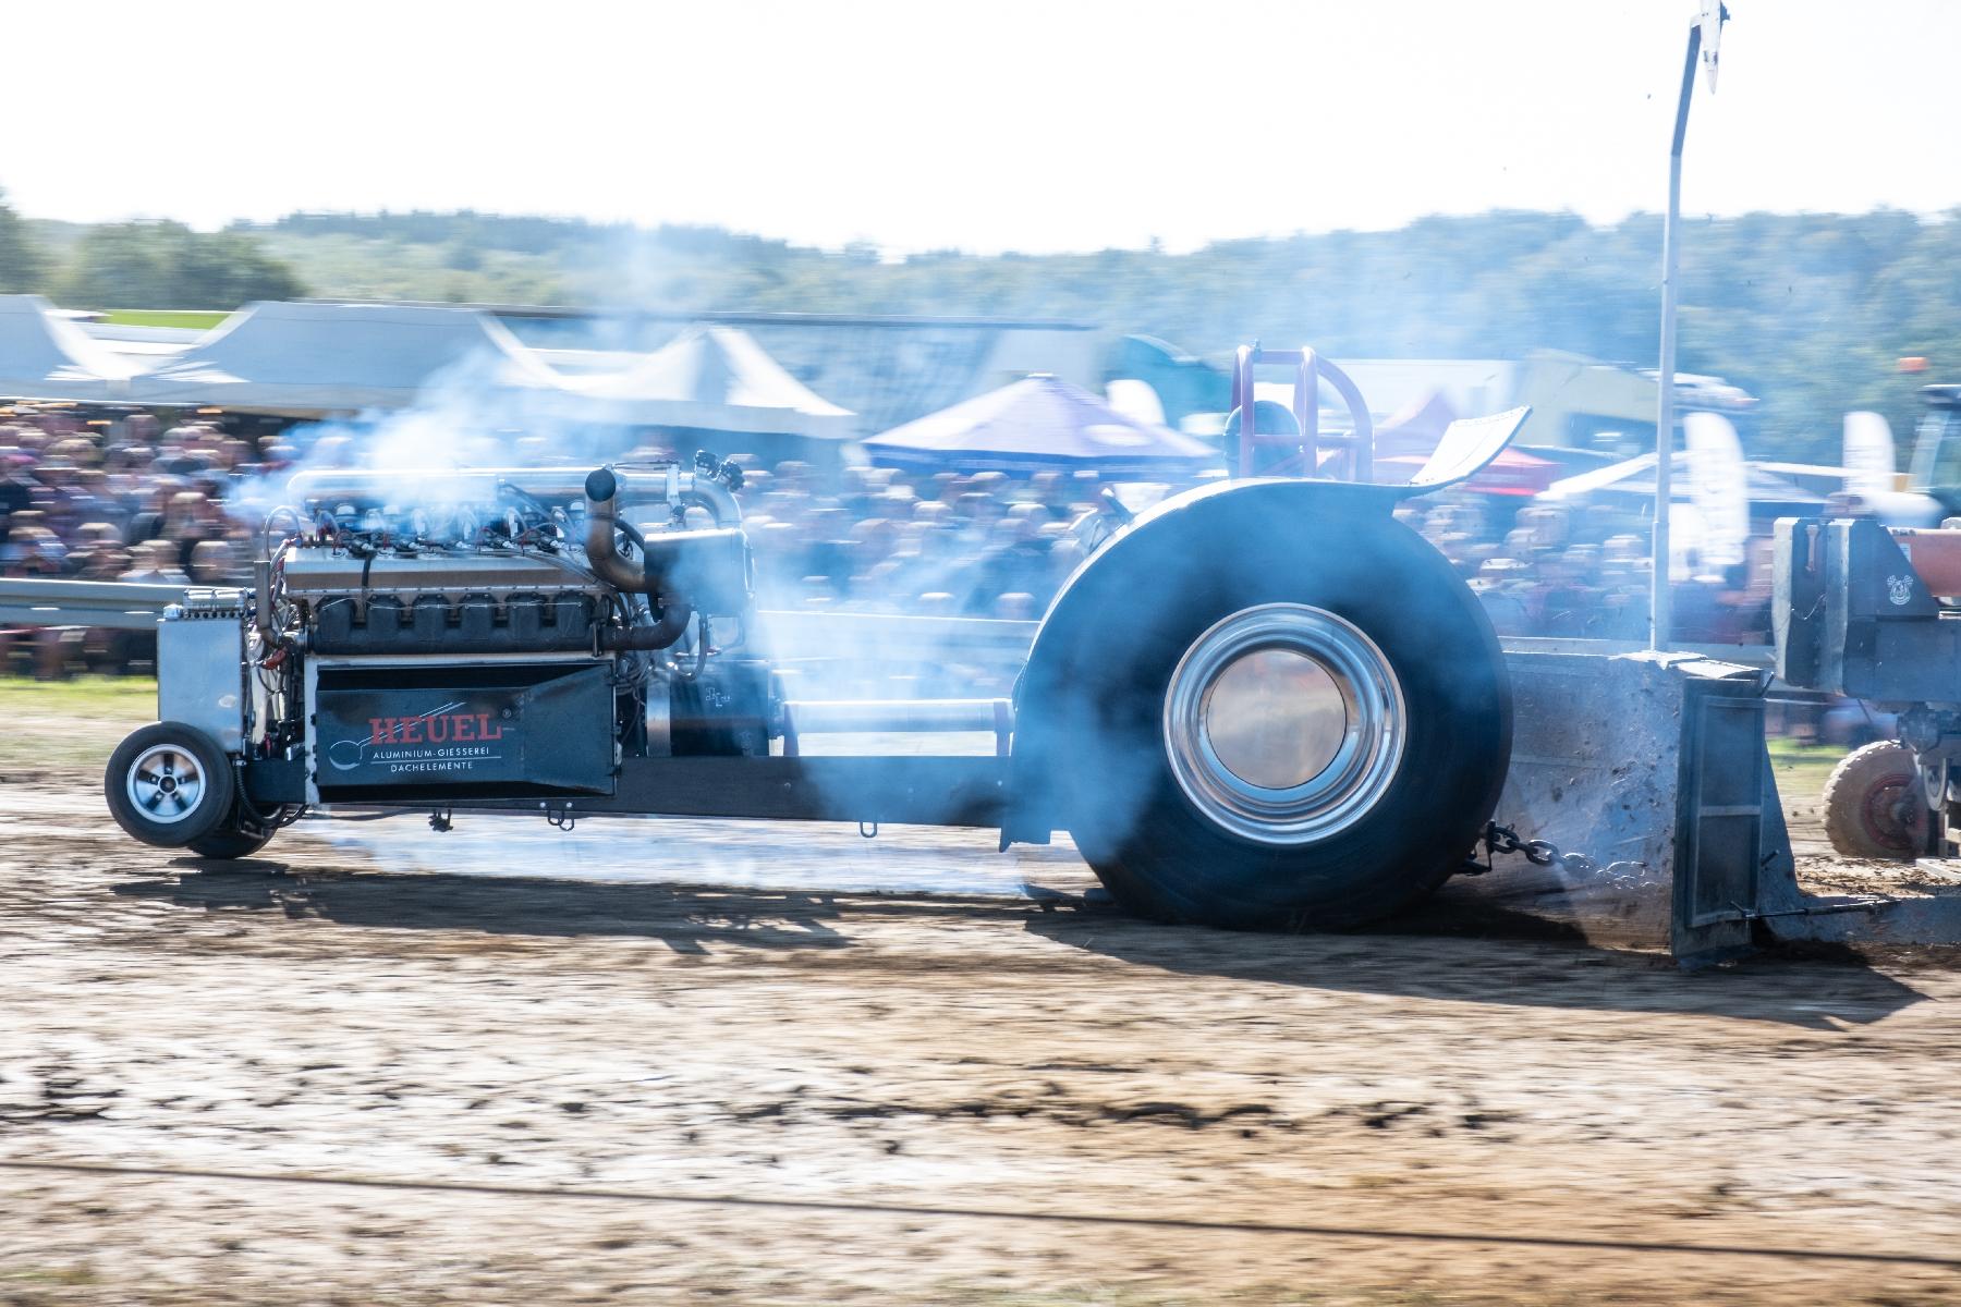
[{"label": "rounded clump of green trees above the white tents at left", "polygon": [[73,308],[229,310],[304,294],[294,270],[241,231],[192,231],[175,221],[90,227],[57,282]]}]

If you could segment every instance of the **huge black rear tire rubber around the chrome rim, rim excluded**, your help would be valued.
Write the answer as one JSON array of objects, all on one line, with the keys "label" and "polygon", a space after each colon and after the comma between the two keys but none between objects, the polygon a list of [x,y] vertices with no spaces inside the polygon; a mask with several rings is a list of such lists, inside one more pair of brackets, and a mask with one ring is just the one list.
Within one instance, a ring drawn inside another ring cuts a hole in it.
[{"label": "huge black rear tire rubber around the chrome rim, rim excluded", "polygon": [[[1296,523],[1282,541],[1259,537],[1253,523],[1237,535],[1216,541],[1161,596],[1167,609],[1184,607],[1182,619],[1139,621],[1133,641],[1108,649],[1110,674],[1081,688],[1102,703],[1147,703],[1130,727],[1088,731],[1077,768],[1153,774],[1128,829],[1110,829],[1077,796],[1069,831],[1112,896],[1141,915],[1233,929],[1343,929],[1394,915],[1463,864],[1496,805],[1510,754],[1496,635],[1447,560],[1386,513]],[[1412,700],[1396,782],[1355,827],[1310,847],[1253,845],[1206,823],[1149,729],[1190,639],[1263,602],[1341,613],[1383,647]],[[1128,762],[1135,756],[1149,762]]]}]

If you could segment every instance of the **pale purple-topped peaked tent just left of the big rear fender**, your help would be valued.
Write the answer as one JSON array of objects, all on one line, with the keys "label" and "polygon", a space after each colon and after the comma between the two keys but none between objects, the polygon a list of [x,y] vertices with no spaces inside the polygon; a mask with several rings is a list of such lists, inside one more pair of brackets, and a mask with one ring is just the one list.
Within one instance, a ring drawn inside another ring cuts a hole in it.
[{"label": "pale purple-topped peaked tent just left of the big rear fender", "polygon": [[880,466],[945,472],[1094,470],[1133,480],[1186,478],[1220,466],[1188,435],[1126,417],[1104,400],[1035,372],[865,441]]}]

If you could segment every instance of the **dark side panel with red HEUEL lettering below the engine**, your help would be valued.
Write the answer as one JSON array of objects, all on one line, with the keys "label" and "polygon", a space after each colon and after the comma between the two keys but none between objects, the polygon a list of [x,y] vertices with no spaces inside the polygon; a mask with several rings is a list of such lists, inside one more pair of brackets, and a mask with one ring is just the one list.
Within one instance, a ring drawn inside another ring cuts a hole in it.
[{"label": "dark side panel with red HEUEL lettering below the engine", "polygon": [[314,698],[324,801],[612,794],[606,664],[333,666]]}]

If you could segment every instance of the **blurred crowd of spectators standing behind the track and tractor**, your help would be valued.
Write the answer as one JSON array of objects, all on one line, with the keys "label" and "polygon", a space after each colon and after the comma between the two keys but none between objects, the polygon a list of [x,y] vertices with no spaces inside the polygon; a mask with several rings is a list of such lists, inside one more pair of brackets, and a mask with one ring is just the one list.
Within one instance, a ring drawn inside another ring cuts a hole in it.
[{"label": "blurred crowd of spectators standing behind the track and tractor", "polygon": [[[357,441],[324,439],[337,449],[304,431],[249,439],[220,421],[167,425],[147,411],[0,410],[0,576],[245,584],[257,513],[237,500],[302,451],[310,462],[359,460]],[[518,445],[516,462],[549,459],[535,437]],[[626,453],[671,455],[655,445]],[[735,460],[759,598],[771,607],[1039,617],[1094,543],[1073,523],[1100,511],[1106,490],[1094,472],[1020,478]],[[1135,506],[1137,488],[1122,494]],[[1649,564],[1637,509],[1577,513],[1459,492],[1412,502],[1398,517],[1443,551],[1504,635],[1645,635]],[[1677,639],[1767,639],[1769,568],[1753,545],[1751,564],[1677,588]],[[20,653],[43,676],[118,670],[143,660],[143,641],[0,633],[0,662],[22,662],[8,656]]]}]

